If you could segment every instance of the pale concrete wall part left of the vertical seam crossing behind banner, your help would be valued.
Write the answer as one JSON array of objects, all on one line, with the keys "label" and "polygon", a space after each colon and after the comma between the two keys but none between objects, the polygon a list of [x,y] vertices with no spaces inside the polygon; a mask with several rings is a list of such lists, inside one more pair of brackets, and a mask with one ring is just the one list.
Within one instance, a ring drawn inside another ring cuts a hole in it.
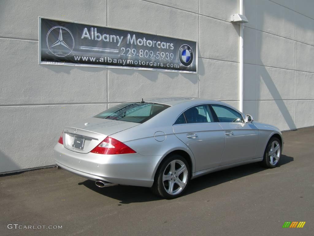
[{"label": "pale concrete wall part left of the vertical seam crossing behind banner", "polygon": [[105,1],[0,1],[0,172],[54,165],[62,128],[107,108],[107,70],[38,64],[38,16],[107,23]]}]

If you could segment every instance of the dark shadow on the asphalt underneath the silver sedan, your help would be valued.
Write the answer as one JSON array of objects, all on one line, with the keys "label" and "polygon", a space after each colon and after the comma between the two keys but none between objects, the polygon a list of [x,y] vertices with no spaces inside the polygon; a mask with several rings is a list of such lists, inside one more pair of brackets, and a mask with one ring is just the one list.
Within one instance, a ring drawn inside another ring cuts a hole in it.
[{"label": "dark shadow on the asphalt underneath the silver sedan", "polygon": [[[285,165],[293,160],[293,157],[281,155],[279,165],[276,168],[280,168],[280,166]],[[257,162],[214,172],[196,179],[192,179],[189,183],[186,194],[193,194],[221,183],[227,183],[232,180],[266,170],[267,169],[262,167],[260,163]],[[117,199],[122,204],[160,200],[160,197],[155,196],[149,188],[145,187],[119,185],[114,187],[98,188],[95,185],[95,182],[91,180],[85,180],[82,183],[78,183],[78,185],[84,185],[85,187],[99,194]]]}]

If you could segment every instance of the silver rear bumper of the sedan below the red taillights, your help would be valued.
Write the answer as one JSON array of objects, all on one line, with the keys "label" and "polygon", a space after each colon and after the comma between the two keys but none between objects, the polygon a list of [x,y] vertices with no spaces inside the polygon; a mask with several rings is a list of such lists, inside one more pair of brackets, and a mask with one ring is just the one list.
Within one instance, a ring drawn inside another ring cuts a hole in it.
[{"label": "silver rear bumper of the sedan below the red taillights", "polygon": [[143,156],[138,153],[102,155],[78,153],[57,143],[54,147],[56,164],[90,180],[151,187],[154,173],[162,156]]}]

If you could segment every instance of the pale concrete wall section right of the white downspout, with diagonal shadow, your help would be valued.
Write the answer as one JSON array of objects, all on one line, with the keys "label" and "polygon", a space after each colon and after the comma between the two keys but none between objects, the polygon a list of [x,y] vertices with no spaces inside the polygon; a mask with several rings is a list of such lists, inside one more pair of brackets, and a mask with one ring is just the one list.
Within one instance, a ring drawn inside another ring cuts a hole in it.
[{"label": "pale concrete wall section right of the white downspout, with diagonal shadow", "polygon": [[314,1],[244,0],[244,111],[281,130],[313,126]]}]

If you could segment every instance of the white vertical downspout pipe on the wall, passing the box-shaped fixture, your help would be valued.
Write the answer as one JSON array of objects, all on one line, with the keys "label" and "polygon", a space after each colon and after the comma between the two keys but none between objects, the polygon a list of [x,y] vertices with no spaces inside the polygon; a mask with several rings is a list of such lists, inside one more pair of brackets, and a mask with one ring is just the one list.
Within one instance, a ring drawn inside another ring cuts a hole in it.
[{"label": "white vertical downspout pipe on the wall, passing the box-shaped fixture", "polygon": [[[243,15],[243,0],[239,0],[239,14]],[[240,23],[239,38],[239,110],[243,112],[243,23]]]}]

